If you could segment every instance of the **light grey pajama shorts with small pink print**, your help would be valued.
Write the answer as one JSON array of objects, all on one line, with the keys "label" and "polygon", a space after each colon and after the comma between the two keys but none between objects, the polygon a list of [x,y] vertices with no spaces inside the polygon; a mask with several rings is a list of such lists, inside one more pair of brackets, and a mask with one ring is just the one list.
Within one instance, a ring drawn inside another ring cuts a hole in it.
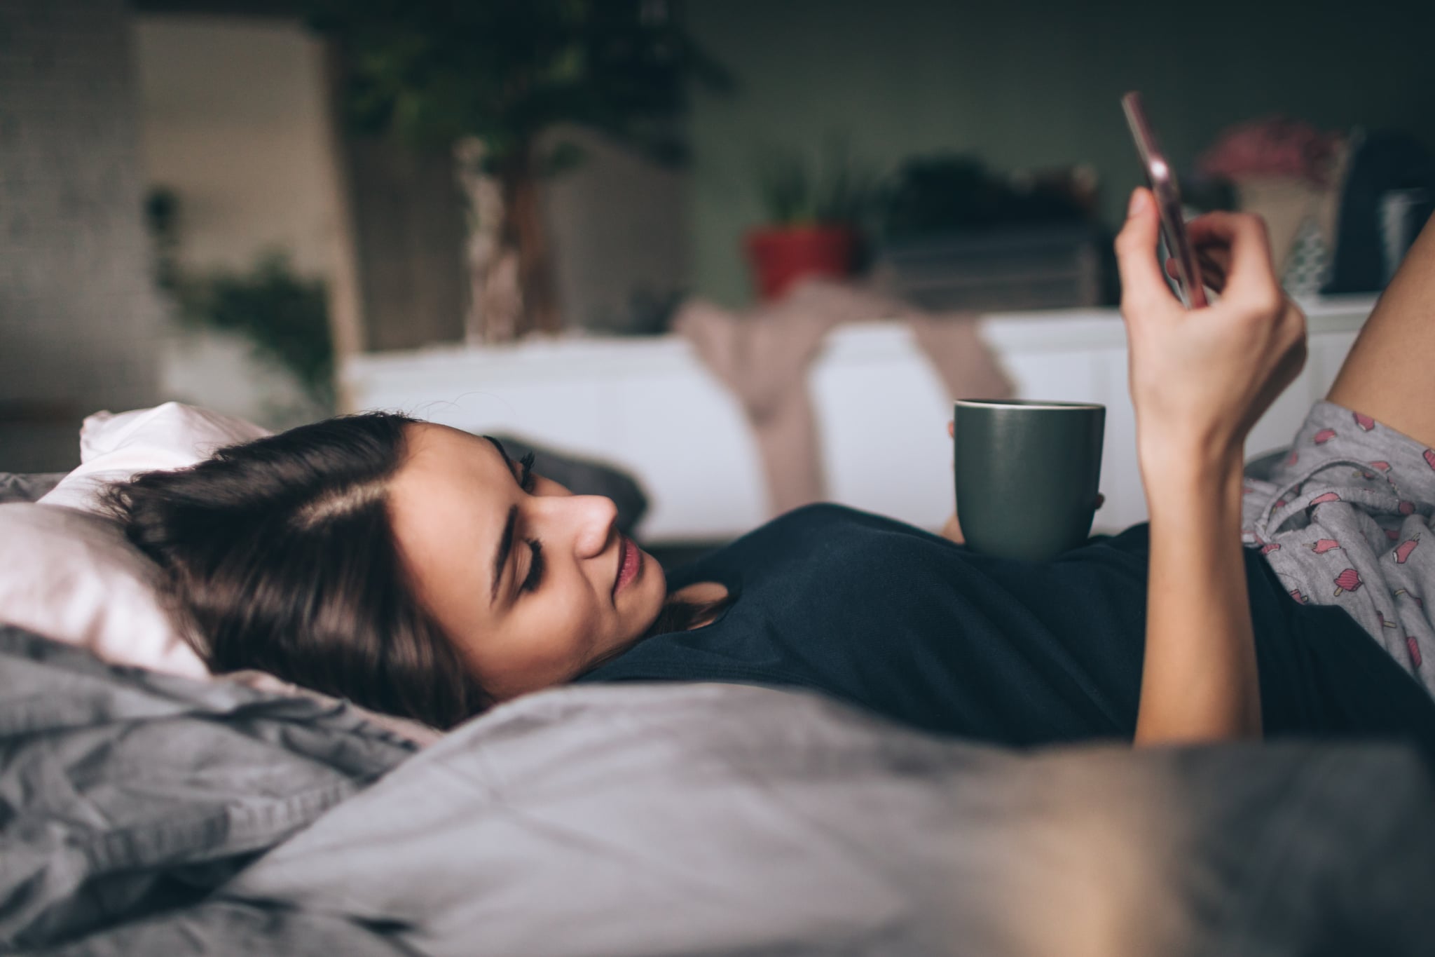
[{"label": "light grey pajama shorts with small pink print", "polygon": [[1289,456],[1247,475],[1241,511],[1292,598],[1349,611],[1435,694],[1435,449],[1317,402]]}]

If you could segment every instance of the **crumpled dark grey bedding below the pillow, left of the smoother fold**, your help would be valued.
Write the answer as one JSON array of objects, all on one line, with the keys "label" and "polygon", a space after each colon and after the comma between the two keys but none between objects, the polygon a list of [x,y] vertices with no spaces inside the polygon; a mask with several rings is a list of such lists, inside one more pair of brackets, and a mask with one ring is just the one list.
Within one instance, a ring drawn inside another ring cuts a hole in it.
[{"label": "crumpled dark grey bedding below the pillow, left of the smoother fold", "polygon": [[416,750],[346,704],[0,627],[0,953],[199,900]]}]

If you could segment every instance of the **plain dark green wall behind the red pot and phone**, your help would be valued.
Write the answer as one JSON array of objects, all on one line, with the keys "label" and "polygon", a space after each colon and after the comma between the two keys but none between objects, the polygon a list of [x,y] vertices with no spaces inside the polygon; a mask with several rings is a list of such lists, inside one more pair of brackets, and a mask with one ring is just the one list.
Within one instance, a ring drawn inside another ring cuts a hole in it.
[{"label": "plain dark green wall behind the red pot and phone", "polygon": [[1286,113],[1326,129],[1401,126],[1435,146],[1435,0],[961,3],[687,0],[740,83],[690,118],[699,293],[749,297],[743,231],[771,146],[842,135],[880,168],[974,151],[997,169],[1091,164],[1116,222],[1139,179],[1121,93],[1141,89],[1178,165],[1224,126]]}]

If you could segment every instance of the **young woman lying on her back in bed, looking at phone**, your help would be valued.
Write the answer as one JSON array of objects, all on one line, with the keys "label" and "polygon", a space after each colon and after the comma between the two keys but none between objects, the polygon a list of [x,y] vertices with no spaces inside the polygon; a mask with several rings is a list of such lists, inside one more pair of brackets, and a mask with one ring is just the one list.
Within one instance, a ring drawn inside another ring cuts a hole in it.
[{"label": "young woman lying on her back in bed, looking at phone", "polygon": [[[1435,752],[1419,683],[1435,630],[1415,601],[1435,562],[1383,555],[1389,525],[1416,535],[1435,511],[1435,383],[1418,374],[1435,354],[1435,227],[1366,324],[1339,407],[1312,412],[1299,478],[1290,463],[1246,485],[1244,438],[1299,373],[1304,317],[1258,220],[1192,224],[1223,293],[1192,313],[1161,275],[1157,230],[1138,189],[1116,251],[1151,522],[1050,562],[819,505],[667,577],[616,531],[610,501],[494,440],[390,415],[225,449],[110,501],[215,670],[264,669],[436,726],[575,680],[716,680],[818,689],[999,743],[1379,733]],[[1325,435],[1332,416],[1352,428]],[[1322,498],[1352,481],[1369,494]],[[1345,554],[1302,548],[1342,524]],[[1378,591],[1373,628],[1365,605],[1319,607]],[[1399,641],[1372,641],[1385,620]]]}]

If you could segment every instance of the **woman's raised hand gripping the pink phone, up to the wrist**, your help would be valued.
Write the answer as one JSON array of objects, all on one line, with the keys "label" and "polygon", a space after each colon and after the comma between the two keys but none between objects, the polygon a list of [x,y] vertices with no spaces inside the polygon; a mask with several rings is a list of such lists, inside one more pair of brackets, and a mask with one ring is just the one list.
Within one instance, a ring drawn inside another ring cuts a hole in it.
[{"label": "woman's raised hand gripping the pink phone, up to the wrist", "polygon": [[1157,264],[1159,220],[1148,189],[1135,191],[1116,237],[1148,484],[1168,469],[1238,465],[1246,435],[1306,362],[1306,317],[1280,288],[1264,222],[1213,212],[1188,230],[1203,278],[1220,293],[1197,310],[1181,306]]}]

